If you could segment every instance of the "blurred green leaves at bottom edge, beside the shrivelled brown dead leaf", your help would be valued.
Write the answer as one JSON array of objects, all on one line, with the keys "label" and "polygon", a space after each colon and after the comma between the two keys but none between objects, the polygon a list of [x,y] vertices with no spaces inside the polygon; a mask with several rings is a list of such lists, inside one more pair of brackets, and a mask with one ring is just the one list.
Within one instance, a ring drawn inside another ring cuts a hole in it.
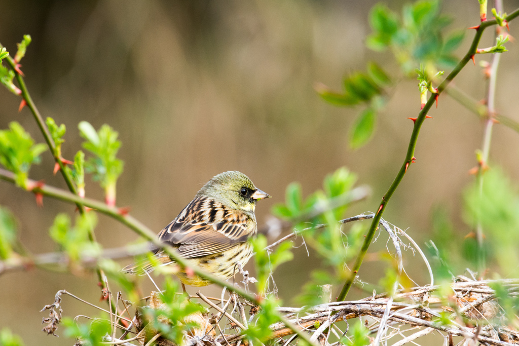
[{"label": "blurred green leaves at bottom edge, beside the shrivelled brown dead leaf", "polygon": [[97,319],[90,324],[78,324],[70,317],[62,320],[65,336],[81,340],[83,346],[102,346],[102,339],[110,333],[110,320]]}]

